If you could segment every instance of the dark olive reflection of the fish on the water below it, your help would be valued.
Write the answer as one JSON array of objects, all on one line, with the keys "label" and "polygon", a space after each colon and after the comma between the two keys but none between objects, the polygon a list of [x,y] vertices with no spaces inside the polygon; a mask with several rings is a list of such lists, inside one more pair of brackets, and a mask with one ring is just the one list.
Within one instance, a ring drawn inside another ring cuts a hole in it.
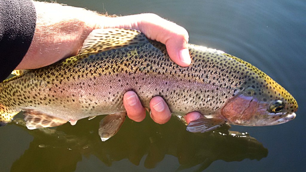
[{"label": "dark olive reflection of the fish on the water below it", "polygon": [[74,171],[76,164],[90,155],[106,166],[122,159],[128,159],[137,166],[146,157],[144,167],[152,169],[166,155],[172,155],[180,164],[177,170],[200,164],[197,170],[202,171],[216,160],[260,160],[268,154],[268,150],[255,138],[229,131],[229,125],[214,132],[190,133],[174,117],[165,125],[155,124],[149,118],[140,123],[127,119],[114,137],[102,142],[97,133],[101,118],[103,116],[90,121],[83,119],[75,126],[65,124],[35,130],[28,130],[23,119],[15,119],[10,124],[25,129],[34,136],[34,140],[13,163],[11,170],[46,171],[47,167],[47,171]]}]

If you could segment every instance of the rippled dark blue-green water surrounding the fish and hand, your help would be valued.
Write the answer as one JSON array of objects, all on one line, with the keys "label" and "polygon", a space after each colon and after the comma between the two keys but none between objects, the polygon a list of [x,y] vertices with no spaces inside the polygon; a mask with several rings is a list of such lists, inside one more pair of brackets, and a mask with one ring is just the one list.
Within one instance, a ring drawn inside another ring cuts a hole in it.
[{"label": "rippled dark blue-green water surrounding the fish and hand", "polygon": [[[189,32],[189,43],[223,50],[259,69],[297,100],[293,121],[189,133],[172,118],[127,120],[105,143],[103,116],[54,131],[0,128],[0,171],[304,171],[306,2],[303,0],[58,0],[109,14],[156,13]],[[232,134],[236,134],[233,136]]]}]

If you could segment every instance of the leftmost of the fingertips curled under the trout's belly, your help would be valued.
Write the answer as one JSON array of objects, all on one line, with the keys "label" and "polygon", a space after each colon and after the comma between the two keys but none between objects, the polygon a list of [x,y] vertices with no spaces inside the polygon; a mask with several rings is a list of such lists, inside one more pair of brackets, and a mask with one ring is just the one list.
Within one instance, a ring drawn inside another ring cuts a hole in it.
[{"label": "leftmost of the fingertips curled under the trout's belly", "polygon": [[146,110],[135,92],[128,91],[123,95],[123,105],[130,119],[140,122],[146,117]]}]

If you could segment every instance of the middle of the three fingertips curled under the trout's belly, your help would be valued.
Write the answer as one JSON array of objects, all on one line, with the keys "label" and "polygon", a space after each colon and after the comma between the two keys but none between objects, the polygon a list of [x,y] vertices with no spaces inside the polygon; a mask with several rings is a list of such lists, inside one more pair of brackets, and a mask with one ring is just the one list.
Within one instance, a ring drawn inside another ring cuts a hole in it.
[{"label": "middle of the three fingertips curled under the trout's belly", "polygon": [[168,105],[161,97],[153,97],[150,101],[151,118],[159,124],[168,122],[171,118],[171,112]]}]

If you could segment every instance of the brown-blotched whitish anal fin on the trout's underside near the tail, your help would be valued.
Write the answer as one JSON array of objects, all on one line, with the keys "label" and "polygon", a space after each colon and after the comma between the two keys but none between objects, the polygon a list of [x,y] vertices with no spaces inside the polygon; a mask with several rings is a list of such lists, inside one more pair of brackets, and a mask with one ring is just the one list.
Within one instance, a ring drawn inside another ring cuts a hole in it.
[{"label": "brown-blotched whitish anal fin on the trout's underside near the tail", "polygon": [[55,127],[58,125],[65,124],[68,120],[43,114],[39,111],[27,110],[24,111],[24,120],[28,129],[37,129],[45,127]]}]

